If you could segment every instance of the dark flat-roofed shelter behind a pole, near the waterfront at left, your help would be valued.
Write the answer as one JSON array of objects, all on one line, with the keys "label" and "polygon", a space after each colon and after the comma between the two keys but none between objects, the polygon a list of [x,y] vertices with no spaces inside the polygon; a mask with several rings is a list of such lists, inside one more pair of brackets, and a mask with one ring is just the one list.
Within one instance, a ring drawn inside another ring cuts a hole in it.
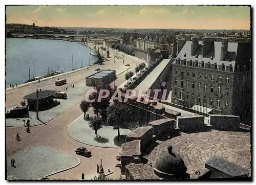
[{"label": "dark flat-roofed shelter behind a pole, near the waterfront at left", "polygon": [[[53,96],[57,93],[56,90],[41,90],[38,91],[38,108],[49,107],[53,102]],[[26,95],[23,99],[28,101],[29,110],[36,109],[36,92]]]}]

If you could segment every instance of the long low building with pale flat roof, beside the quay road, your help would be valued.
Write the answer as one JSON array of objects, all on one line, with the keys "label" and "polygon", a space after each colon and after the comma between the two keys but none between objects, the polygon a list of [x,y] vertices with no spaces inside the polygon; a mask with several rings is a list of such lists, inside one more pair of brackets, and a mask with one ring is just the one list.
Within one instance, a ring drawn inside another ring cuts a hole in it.
[{"label": "long low building with pale flat roof, beside the quay road", "polygon": [[97,73],[92,74],[91,76],[86,78],[87,86],[96,86],[101,84],[102,82],[111,83],[116,79],[116,71],[115,70],[101,70]]}]

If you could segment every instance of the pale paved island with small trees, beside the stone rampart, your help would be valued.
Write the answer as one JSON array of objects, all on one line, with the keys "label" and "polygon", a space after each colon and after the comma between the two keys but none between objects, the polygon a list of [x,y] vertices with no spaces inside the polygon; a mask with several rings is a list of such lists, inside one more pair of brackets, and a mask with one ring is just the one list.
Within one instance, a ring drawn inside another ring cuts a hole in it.
[{"label": "pale paved island with small trees, beside the stone rampart", "polygon": [[[89,111],[89,114],[93,114],[93,109]],[[129,129],[120,129],[120,135],[127,135],[130,132],[131,130]],[[87,145],[120,148],[120,146],[114,143],[114,137],[117,136],[117,130],[114,130],[111,126],[102,126],[102,128],[98,130],[97,138],[94,130],[89,127],[89,122],[83,119],[83,115],[68,127],[68,134],[74,140]]]}]

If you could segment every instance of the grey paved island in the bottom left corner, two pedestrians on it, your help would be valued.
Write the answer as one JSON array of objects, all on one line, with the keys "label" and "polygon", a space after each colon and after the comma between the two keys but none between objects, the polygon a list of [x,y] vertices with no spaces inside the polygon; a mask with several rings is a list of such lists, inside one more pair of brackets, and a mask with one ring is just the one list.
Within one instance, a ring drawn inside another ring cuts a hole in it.
[{"label": "grey paved island in the bottom left corner, two pedestrians on it", "polygon": [[[15,166],[11,167],[14,158]],[[7,157],[7,179],[39,179],[80,164],[80,159],[47,147],[33,147]]]}]

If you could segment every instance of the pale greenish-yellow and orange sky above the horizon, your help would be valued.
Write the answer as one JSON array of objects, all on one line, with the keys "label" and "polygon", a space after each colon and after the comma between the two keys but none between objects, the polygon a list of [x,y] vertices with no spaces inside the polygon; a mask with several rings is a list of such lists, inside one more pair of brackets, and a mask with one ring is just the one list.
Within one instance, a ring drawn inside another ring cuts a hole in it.
[{"label": "pale greenish-yellow and orange sky above the horizon", "polygon": [[7,23],[48,27],[249,30],[242,6],[7,6]]}]

